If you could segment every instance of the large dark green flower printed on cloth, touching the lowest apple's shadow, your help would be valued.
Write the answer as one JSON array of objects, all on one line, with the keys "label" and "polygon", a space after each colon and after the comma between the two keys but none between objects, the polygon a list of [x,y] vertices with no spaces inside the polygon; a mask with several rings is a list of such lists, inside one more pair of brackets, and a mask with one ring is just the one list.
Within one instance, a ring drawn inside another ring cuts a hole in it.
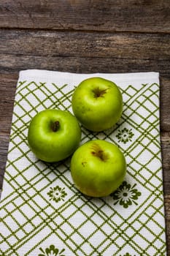
[{"label": "large dark green flower printed on cloth, touching the lowest apple's shadow", "polygon": [[128,206],[131,206],[132,203],[138,205],[136,203],[136,200],[138,200],[138,197],[141,195],[141,192],[139,192],[137,189],[135,189],[136,184],[131,186],[131,184],[128,184],[126,181],[123,181],[123,184],[120,185],[120,187],[111,194],[114,200],[117,203],[120,204],[120,206],[123,206],[123,208],[128,208]]}]

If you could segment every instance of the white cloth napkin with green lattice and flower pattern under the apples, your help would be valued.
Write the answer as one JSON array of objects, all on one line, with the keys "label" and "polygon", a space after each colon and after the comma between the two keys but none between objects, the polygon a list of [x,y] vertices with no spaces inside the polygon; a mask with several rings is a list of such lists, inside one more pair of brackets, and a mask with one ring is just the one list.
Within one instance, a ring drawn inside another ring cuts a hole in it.
[{"label": "white cloth napkin with green lattice and flower pattern under the apples", "polygon": [[[70,158],[42,162],[27,142],[36,113],[47,108],[72,113],[75,86],[94,76],[119,86],[123,115],[104,132],[81,127],[81,144],[110,141],[127,162],[123,183],[101,198],[82,195],[74,187]],[[0,255],[166,255],[159,93],[157,72],[20,72],[0,204]]]}]

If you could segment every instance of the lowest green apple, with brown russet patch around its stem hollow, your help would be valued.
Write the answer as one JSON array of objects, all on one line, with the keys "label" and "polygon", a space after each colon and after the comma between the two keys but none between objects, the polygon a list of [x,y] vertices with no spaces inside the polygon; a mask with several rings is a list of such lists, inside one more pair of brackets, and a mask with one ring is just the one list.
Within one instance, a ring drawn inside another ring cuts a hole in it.
[{"label": "lowest green apple, with brown russet patch around its stem hollow", "polygon": [[106,140],[90,140],[72,155],[72,180],[84,195],[110,195],[122,184],[125,173],[123,152]]}]

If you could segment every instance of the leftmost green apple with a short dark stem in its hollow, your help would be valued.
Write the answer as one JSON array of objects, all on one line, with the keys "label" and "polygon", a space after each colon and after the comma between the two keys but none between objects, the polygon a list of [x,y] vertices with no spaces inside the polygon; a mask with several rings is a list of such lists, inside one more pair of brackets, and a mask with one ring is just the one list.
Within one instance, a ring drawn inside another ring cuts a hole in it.
[{"label": "leftmost green apple with a short dark stem in its hollow", "polygon": [[28,145],[37,158],[58,162],[79,146],[81,129],[77,119],[63,110],[42,110],[28,127]]}]

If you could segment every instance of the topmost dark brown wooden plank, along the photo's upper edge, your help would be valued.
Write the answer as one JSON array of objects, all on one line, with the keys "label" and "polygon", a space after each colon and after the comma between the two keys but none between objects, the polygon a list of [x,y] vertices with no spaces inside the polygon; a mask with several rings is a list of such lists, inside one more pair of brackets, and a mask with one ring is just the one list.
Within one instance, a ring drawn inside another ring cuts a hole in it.
[{"label": "topmost dark brown wooden plank, along the photo's upper edge", "polygon": [[1,28],[170,31],[169,0],[1,0]]}]

